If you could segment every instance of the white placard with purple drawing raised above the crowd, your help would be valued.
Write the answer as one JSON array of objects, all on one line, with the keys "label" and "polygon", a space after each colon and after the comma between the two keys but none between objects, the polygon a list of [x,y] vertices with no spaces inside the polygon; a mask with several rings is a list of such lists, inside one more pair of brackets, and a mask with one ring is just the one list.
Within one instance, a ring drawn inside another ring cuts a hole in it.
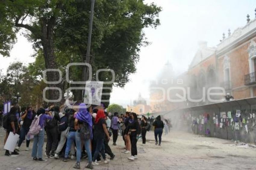
[{"label": "white placard with purple drawing raised above the crowd", "polygon": [[84,103],[92,105],[101,104],[103,81],[90,81],[86,83]]}]

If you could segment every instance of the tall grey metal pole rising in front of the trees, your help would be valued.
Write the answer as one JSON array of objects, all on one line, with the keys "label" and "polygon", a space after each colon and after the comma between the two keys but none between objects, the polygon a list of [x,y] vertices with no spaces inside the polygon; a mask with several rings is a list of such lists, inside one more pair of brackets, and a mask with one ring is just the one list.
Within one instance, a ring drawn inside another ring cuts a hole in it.
[{"label": "tall grey metal pole rising in front of the trees", "polygon": [[[86,59],[85,63],[90,62],[90,50],[91,50],[91,39],[92,39],[92,21],[93,21],[93,11],[94,11],[94,2],[95,0],[91,0],[91,11],[90,11],[90,21],[89,21],[89,32],[88,32],[88,41],[87,41],[87,50],[86,50]],[[88,77],[88,69],[86,70],[86,66],[83,67],[83,81],[87,80]],[[85,90],[82,92],[82,101],[85,94]]]}]

